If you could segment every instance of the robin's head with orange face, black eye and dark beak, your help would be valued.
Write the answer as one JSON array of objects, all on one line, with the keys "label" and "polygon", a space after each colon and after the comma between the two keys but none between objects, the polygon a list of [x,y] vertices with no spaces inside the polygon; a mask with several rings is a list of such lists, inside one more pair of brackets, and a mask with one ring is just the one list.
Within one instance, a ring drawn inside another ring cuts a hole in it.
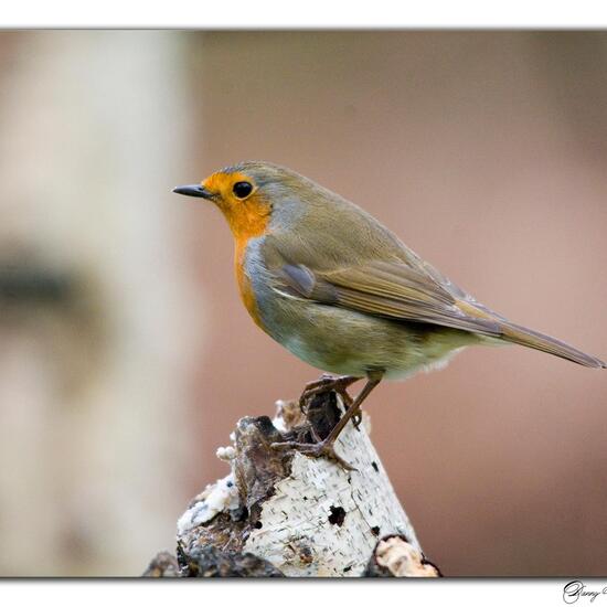
[{"label": "robin's head with orange face, black eye and dark beak", "polygon": [[234,236],[239,238],[263,234],[273,214],[297,214],[301,203],[318,188],[284,167],[248,161],[222,169],[200,184],[175,188],[173,192],[215,203]]}]

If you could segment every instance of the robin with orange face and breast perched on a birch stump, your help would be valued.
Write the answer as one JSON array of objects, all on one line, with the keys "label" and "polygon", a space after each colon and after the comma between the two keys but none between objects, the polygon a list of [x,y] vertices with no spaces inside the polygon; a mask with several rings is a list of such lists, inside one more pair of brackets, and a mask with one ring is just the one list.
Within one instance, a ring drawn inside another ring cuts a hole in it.
[{"label": "robin with orange face and breast perched on a birch stump", "polygon": [[[443,276],[377,220],[285,167],[242,162],[173,192],[213,202],[235,241],[235,271],[253,320],[305,362],[329,371],[300,403],[336,391],[347,411],[315,444],[277,443],[351,468],[333,444],[371,391],[446,365],[475,344],[518,343],[584,366],[605,363],[510,322]],[[347,388],[366,383],[355,398]]]}]

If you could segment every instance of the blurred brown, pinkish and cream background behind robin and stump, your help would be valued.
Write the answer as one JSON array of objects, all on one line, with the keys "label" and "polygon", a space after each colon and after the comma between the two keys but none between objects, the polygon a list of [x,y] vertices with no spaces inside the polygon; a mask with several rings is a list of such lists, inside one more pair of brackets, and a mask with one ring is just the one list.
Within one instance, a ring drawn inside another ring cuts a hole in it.
[{"label": "blurred brown, pinkish and cream background behind robin and stump", "polygon": [[[511,319],[607,356],[604,32],[0,33],[0,574],[138,575],[242,415],[319,374],[242,308],[239,160],[371,211]],[[473,349],[375,445],[446,575],[607,575],[607,375]]]}]

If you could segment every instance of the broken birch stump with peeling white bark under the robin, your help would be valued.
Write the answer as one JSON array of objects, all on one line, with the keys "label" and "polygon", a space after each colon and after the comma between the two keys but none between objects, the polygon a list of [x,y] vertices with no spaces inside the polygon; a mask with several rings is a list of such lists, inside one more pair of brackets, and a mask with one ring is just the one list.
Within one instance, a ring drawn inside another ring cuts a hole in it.
[{"label": "broken birch stump with peeling white bark under the robin", "polygon": [[275,450],[273,443],[323,438],[343,404],[331,392],[307,418],[278,402],[274,419],[243,417],[217,450],[231,473],[209,484],[178,521],[177,560],[160,553],[147,576],[436,577],[369,438],[363,414],[336,449],[355,470],[324,458]]}]

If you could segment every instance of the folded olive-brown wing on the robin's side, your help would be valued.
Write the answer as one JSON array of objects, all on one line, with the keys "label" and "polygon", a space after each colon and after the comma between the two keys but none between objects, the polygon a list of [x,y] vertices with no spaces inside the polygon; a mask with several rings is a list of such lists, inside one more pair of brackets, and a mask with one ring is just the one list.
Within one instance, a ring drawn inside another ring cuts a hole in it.
[{"label": "folded olive-brown wing on the robin's side", "polygon": [[286,263],[274,274],[276,290],[290,297],[393,320],[439,324],[492,337],[502,334],[498,319],[477,307],[473,299],[457,298],[428,271],[398,259],[331,270]]}]

